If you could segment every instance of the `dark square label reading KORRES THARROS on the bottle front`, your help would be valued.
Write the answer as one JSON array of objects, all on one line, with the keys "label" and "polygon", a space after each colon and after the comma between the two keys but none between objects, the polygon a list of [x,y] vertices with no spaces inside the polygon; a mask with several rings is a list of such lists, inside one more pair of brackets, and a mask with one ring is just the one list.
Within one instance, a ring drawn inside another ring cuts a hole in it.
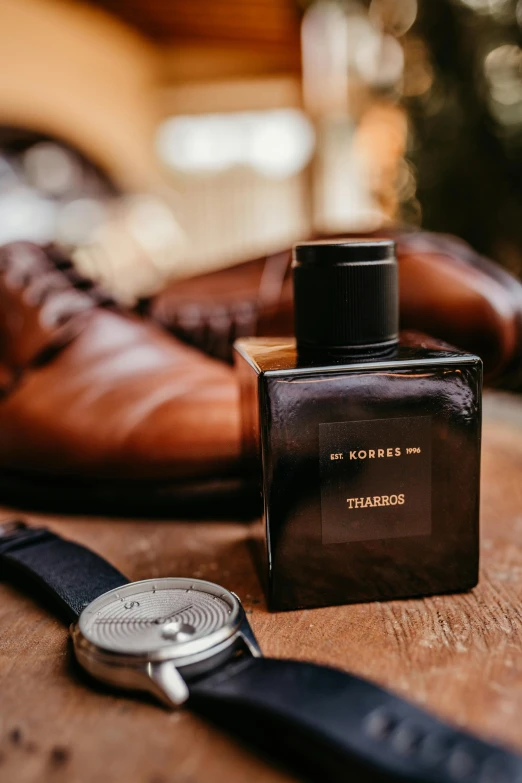
[{"label": "dark square label reading KORRES THARROS on the bottle front", "polygon": [[431,418],[319,425],[323,544],[431,533]]}]

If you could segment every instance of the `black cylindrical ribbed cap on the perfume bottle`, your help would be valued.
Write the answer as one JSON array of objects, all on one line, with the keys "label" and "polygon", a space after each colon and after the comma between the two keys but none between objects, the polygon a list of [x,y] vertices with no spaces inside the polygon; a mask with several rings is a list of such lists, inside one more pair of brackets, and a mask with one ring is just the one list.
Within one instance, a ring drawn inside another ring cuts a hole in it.
[{"label": "black cylindrical ribbed cap on the perfume bottle", "polygon": [[399,332],[395,243],[303,242],[293,255],[298,348],[339,355],[393,350]]}]

